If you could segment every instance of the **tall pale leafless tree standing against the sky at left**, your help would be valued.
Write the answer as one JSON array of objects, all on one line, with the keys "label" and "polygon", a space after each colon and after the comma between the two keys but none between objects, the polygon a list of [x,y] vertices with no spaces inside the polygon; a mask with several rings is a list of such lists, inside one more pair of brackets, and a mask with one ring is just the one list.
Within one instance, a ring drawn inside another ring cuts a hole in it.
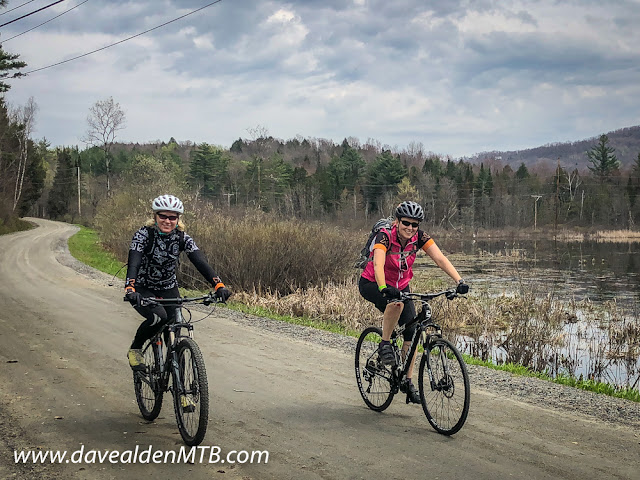
[{"label": "tall pale leafless tree standing against the sky at left", "polygon": [[100,147],[104,152],[104,164],[107,171],[107,195],[111,193],[111,147],[116,138],[116,132],[125,127],[124,110],[120,104],[113,101],[113,97],[98,100],[90,109],[87,116],[89,128],[82,141],[94,147]]}]

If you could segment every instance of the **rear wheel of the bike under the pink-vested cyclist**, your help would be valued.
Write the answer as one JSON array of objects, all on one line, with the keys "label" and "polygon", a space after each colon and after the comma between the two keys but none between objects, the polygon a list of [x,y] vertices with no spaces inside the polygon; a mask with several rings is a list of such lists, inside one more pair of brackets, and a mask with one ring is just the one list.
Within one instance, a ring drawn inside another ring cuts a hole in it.
[{"label": "rear wheel of the bike under the pink-vested cyclist", "polygon": [[391,388],[391,367],[382,365],[378,358],[380,340],[380,328],[366,328],[358,339],[355,356],[356,381],[360,395],[367,407],[376,412],[382,412],[391,405],[394,395]]}]

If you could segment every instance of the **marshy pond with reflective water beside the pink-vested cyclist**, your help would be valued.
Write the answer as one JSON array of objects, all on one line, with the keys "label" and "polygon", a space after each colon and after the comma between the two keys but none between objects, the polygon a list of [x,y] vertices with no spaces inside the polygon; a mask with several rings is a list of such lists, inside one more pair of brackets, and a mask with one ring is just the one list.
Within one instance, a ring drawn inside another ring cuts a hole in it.
[{"label": "marshy pond with reflective water beside the pink-vested cyclist", "polygon": [[[518,329],[523,326],[514,323],[508,331],[483,338],[460,338],[463,350],[475,355],[483,352],[482,356],[498,363],[515,358],[551,375],[568,373],[638,387],[639,242],[478,239],[443,240],[438,244],[472,289],[486,290],[490,295],[509,295],[522,291],[522,285],[526,285],[538,298],[551,294],[554,301],[567,305],[588,301],[595,307],[588,311],[578,307],[563,326],[554,327],[557,331],[540,329],[554,339],[554,345],[534,345],[536,340],[531,336],[518,337]],[[433,268],[422,262],[420,265],[417,268]],[[607,303],[613,301],[614,306]],[[609,321],[603,310],[615,310],[615,321]],[[619,312],[624,313],[624,318],[620,318]],[[529,319],[524,320],[529,334],[532,329],[535,331],[536,326]],[[514,344],[517,338],[526,344]]]}]

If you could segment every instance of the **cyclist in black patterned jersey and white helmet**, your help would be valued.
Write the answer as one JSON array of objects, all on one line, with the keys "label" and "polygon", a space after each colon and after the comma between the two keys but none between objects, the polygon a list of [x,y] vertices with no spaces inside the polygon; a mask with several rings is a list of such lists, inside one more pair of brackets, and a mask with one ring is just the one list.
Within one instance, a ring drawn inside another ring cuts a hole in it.
[{"label": "cyclist in black patterned jersey and white helmet", "polygon": [[176,280],[180,252],[187,254],[191,263],[211,284],[217,298],[226,301],[231,296],[193,238],[185,233],[184,224],[180,221],[180,215],[184,213],[180,199],[173,195],[161,195],[153,200],[151,208],[153,219],[133,235],[129,247],[125,298],[145,318],[127,354],[133,370],[145,368],[141,350],[144,342],[175,318],[176,307],[141,306],[140,300],[145,297],[180,296]]}]

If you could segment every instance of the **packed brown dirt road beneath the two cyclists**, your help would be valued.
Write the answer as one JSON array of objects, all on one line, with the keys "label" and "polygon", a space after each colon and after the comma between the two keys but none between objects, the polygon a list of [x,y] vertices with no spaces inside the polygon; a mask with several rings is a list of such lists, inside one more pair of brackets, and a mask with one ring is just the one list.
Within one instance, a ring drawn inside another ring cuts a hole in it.
[{"label": "packed brown dirt road beneath the two cyclists", "polygon": [[139,317],[120,289],[60,263],[75,227],[34,221],[0,237],[0,478],[638,478],[630,427],[473,389],[467,424],[447,438],[401,398],[367,409],[352,355],[229,315],[196,326],[211,393],[203,445],[267,450],[268,464],[15,465],[14,449],[182,445],[169,398],[154,423],[138,413],[125,352]]}]

